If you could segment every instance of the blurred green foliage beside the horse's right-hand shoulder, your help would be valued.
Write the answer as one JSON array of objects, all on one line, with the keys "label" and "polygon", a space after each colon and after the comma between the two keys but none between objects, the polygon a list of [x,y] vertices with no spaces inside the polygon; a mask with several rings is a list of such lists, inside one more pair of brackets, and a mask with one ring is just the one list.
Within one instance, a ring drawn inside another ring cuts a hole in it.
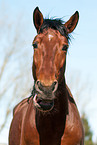
[{"label": "blurred green foliage beside the horse's right-hand shoulder", "polygon": [[90,129],[90,126],[89,126],[89,123],[85,114],[82,115],[82,122],[83,122],[84,130],[85,130],[85,145],[97,145],[92,140],[93,133]]}]

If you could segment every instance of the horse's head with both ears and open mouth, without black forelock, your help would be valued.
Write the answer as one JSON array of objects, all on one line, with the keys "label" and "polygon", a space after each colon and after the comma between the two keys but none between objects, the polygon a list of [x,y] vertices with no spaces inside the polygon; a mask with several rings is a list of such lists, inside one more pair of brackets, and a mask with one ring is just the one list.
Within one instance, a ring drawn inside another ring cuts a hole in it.
[{"label": "horse's head with both ears and open mouth, without black forelock", "polygon": [[[58,30],[44,28],[43,15],[38,8],[33,14],[34,25],[38,35],[33,41],[33,77],[36,95],[34,105],[42,111],[49,111],[54,106],[55,92],[64,79],[68,39]],[[64,26],[66,33],[71,33],[78,22],[78,12],[67,21]]]}]

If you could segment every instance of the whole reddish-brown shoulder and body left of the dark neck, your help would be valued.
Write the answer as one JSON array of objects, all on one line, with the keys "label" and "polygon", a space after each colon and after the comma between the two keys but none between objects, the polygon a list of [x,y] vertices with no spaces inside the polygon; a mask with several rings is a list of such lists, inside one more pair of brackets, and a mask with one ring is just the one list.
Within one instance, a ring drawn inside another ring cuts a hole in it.
[{"label": "whole reddish-brown shoulder and body left of the dark neck", "polygon": [[32,100],[21,101],[13,111],[13,120],[9,132],[10,145],[39,145],[39,135],[35,123],[35,109]]}]

